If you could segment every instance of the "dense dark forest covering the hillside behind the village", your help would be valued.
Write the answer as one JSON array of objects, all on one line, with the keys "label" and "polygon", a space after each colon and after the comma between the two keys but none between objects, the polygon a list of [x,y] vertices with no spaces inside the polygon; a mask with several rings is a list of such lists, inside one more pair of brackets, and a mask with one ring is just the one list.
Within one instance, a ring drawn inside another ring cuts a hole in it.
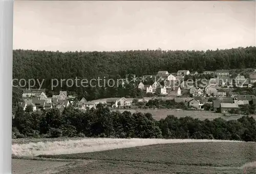
[{"label": "dense dark forest covering the hillside behind the village", "polygon": [[[106,79],[124,78],[126,74],[156,74],[159,70],[177,72],[180,69],[203,71],[233,68],[255,68],[256,47],[232,48],[216,51],[123,51],[123,52],[49,52],[13,51],[13,78],[45,79],[43,88],[51,89],[50,79]],[[79,92],[79,88],[62,90]],[[94,88],[97,95],[104,91]],[[60,90],[55,88],[56,91]],[[90,90],[90,89],[87,89]],[[80,93],[83,91],[80,91]],[[91,93],[91,91],[87,91]],[[96,95],[95,94],[95,95]],[[97,96],[99,97],[99,96]]]}]

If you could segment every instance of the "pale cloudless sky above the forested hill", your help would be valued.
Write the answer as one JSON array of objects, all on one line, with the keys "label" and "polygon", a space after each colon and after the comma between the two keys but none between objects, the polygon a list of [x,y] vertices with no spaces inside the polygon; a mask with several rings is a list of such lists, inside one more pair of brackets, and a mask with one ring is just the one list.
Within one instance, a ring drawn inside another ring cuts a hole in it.
[{"label": "pale cloudless sky above the forested hill", "polygon": [[255,2],[15,1],[13,48],[207,50],[255,46]]}]

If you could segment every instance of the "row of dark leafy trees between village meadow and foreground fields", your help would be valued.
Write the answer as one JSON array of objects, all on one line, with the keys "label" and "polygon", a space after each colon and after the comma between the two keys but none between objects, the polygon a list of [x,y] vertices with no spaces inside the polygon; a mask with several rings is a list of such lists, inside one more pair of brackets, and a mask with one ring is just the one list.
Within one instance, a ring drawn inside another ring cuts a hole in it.
[{"label": "row of dark leafy trees between village meadow and foreground fields", "polygon": [[72,107],[32,112],[17,109],[13,118],[13,138],[23,137],[116,137],[116,138],[193,138],[256,141],[256,121],[244,116],[226,121],[203,121],[173,115],[156,121],[152,114],[111,112],[98,105],[80,111]]}]

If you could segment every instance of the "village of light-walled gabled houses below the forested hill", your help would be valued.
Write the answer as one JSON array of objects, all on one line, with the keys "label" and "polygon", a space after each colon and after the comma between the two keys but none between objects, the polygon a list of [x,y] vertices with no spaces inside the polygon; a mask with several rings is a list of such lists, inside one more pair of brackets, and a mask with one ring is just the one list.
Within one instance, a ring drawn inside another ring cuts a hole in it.
[{"label": "village of light-walled gabled houses below the forested hill", "polygon": [[[160,78],[152,85],[146,85],[138,82],[137,87],[148,96],[138,98],[138,102],[147,103],[150,100],[174,100],[175,103],[184,103],[189,110],[207,110],[215,112],[229,112],[239,109],[242,105],[256,104],[255,95],[239,95],[232,92],[234,88],[253,88],[256,84],[256,72],[252,70],[249,78],[238,74],[231,78],[229,70],[204,71],[202,74],[212,74],[209,80],[200,79],[198,82],[185,80],[185,77],[197,76],[198,72],[189,72],[189,70],[179,70],[177,73],[168,71],[158,71],[154,76],[147,76],[148,79]],[[204,81],[204,82],[202,82]],[[95,101],[87,101],[82,98],[74,102],[76,96],[68,95],[68,91],[60,91],[58,95],[48,97],[45,89],[23,89],[23,102],[21,106],[26,109],[32,106],[33,111],[41,109],[57,108],[61,112],[70,105],[76,109],[87,110],[96,108],[101,103],[110,108],[133,107],[135,98],[101,98]],[[210,108],[209,108],[210,107]]]}]

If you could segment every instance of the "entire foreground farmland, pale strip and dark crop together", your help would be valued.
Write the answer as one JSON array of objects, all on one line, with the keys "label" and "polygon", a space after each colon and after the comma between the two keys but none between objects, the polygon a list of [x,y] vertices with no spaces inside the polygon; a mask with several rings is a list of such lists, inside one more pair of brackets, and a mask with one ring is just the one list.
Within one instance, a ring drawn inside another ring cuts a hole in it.
[{"label": "entire foreground farmland, pale strip and dark crop together", "polygon": [[[12,149],[19,156],[13,159],[13,169],[28,171],[13,172],[19,174],[237,174],[256,161],[255,143],[221,140],[88,138],[13,144]],[[26,160],[30,158],[37,161]],[[246,173],[256,170],[248,168]]]}]

